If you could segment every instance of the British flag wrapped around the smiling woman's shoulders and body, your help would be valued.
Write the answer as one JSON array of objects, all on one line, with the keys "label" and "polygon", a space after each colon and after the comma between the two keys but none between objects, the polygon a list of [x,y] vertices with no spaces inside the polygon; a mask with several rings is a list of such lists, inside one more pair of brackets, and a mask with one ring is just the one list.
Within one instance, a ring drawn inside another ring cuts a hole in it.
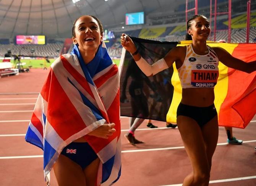
[{"label": "British flag wrapped around the smiling woman's shoulders and body", "polygon": [[[97,185],[110,185],[121,174],[119,73],[104,42],[87,65],[75,45],[60,56],[37,99],[26,141],[44,150],[48,175],[62,149],[84,136],[100,159]],[[109,139],[86,135],[104,123],[115,123]]]}]

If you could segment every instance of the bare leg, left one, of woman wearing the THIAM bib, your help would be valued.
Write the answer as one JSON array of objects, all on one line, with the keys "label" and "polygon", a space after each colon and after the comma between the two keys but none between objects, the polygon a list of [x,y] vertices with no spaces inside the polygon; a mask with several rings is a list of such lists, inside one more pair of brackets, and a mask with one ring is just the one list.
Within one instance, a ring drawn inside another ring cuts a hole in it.
[{"label": "bare leg, left one, of woman wearing the THIAM bib", "polygon": [[201,128],[195,120],[183,115],[177,116],[177,125],[193,167],[183,186],[208,186],[210,168]]}]

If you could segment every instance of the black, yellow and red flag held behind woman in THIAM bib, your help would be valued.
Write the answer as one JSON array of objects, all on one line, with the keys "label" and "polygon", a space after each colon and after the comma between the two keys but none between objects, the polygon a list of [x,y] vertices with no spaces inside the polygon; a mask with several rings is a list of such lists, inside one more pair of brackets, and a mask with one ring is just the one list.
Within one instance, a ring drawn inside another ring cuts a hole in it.
[{"label": "black, yellow and red flag held behind woman in THIAM bib", "polygon": [[[141,56],[153,64],[163,58],[173,47],[191,41],[160,42],[131,37]],[[243,61],[256,60],[256,44],[228,44],[207,42],[211,47],[222,47]],[[176,123],[176,111],[181,100],[178,71],[173,66],[146,77],[130,53],[123,49],[120,67],[120,109],[122,116]],[[219,79],[214,88],[215,107],[220,126],[245,128],[256,114],[256,72],[245,73],[219,63]]]}]

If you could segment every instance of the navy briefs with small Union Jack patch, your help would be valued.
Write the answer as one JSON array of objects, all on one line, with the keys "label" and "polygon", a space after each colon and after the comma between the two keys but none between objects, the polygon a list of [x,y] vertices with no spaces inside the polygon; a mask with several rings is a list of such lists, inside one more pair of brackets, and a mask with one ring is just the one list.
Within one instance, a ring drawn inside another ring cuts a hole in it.
[{"label": "navy briefs with small Union Jack patch", "polygon": [[83,170],[98,157],[87,142],[71,142],[64,147],[61,154],[80,165]]}]

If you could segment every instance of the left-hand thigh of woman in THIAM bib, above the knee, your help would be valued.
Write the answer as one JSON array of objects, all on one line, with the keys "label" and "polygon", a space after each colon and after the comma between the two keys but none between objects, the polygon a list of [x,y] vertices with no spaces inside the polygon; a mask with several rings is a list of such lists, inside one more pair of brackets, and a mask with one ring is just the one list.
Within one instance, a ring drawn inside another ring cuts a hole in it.
[{"label": "left-hand thigh of woman in THIAM bib, above the knee", "polygon": [[193,165],[193,171],[195,173],[208,172],[209,164],[201,128],[192,118],[181,115],[177,117],[177,125],[186,152]]}]

